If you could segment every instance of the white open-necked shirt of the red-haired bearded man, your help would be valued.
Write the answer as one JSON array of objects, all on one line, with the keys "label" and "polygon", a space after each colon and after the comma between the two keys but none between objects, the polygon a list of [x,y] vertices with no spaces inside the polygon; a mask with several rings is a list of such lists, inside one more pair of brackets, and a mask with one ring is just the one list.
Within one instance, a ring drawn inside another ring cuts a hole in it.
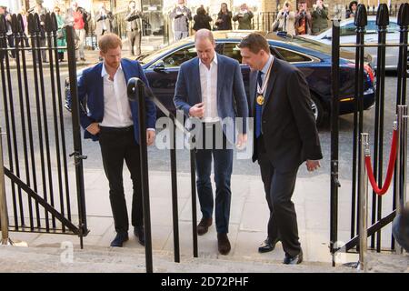
[{"label": "white open-necked shirt of the red-haired bearded man", "polygon": [[104,119],[99,125],[109,127],[134,125],[122,66],[119,65],[112,81],[103,63],[101,76],[104,78]]}]

